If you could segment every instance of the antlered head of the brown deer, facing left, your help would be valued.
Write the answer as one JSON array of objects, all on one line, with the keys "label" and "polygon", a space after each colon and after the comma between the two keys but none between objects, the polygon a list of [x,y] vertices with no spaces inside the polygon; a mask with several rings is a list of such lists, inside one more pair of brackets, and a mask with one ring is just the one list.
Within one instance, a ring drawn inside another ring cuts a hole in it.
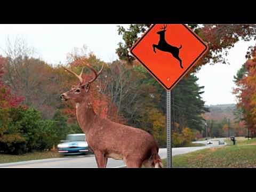
[{"label": "antlered head of the brown deer, facing left", "polygon": [[63,67],[69,73],[73,74],[75,77],[78,78],[79,84],[71,86],[71,90],[69,90],[66,93],[61,94],[60,95],[61,100],[63,100],[63,101],[73,100],[76,103],[80,103],[85,98],[87,98],[87,95],[89,95],[88,92],[90,90],[91,83],[94,82],[99,77],[99,75],[101,74],[101,71],[102,71],[104,65],[102,65],[102,67],[101,67],[101,69],[100,69],[100,71],[98,73],[89,64],[86,64],[86,66],[89,69],[91,69],[93,71],[94,75],[95,75],[95,77],[92,78],[88,82],[84,82],[84,79],[82,78],[82,74],[83,74],[84,68],[82,69],[80,75],[77,75],[76,73],[74,73],[74,71],[71,71],[70,69],[67,69],[67,68]]}]

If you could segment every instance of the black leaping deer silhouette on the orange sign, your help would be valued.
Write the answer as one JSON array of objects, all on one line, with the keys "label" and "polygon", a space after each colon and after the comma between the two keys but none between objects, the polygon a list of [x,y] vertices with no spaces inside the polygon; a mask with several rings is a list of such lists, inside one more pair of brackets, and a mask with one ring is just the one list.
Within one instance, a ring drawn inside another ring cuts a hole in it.
[{"label": "black leaping deer silhouette on the orange sign", "polygon": [[182,45],[180,45],[180,47],[178,48],[178,47],[168,44],[165,41],[166,27],[167,27],[167,25],[164,25],[164,27],[161,28],[163,30],[157,32],[157,34],[160,35],[160,39],[159,39],[158,45],[153,44],[154,52],[156,53],[156,48],[157,48],[158,50],[171,53],[174,58],[176,58],[180,61],[180,67],[183,69],[182,60],[179,58],[179,53],[180,53],[180,49],[181,49]]}]

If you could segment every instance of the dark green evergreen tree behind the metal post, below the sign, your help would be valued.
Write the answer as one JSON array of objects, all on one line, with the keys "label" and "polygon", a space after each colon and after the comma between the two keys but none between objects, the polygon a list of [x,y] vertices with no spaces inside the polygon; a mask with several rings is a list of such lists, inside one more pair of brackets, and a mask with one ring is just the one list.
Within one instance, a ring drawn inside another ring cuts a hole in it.
[{"label": "dark green evergreen tree behind the metal post, below the sign", "polygon": [[[203,86],[199,86],[197,82],[198,78],[191,74],[187,78],[182,79],[177,86],[173,89],[173,102],[172,102],[172,116],[175,122],[179,123],[179,129],[181,132],[185,127],[189,127],[193,130],[204,130],[205,119],[202,114],[209,112],[204,106],[201,94],[204,93]],[[166,94],[165,90],[161,93],[161,103],[163,113],[166,111]]]}]

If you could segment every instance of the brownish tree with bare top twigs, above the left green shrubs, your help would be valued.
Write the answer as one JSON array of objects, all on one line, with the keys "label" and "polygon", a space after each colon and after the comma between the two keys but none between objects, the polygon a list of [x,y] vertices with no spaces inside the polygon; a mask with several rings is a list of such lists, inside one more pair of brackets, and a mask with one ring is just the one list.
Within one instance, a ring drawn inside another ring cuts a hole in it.
[{"label": "brownish tree with bare top twigs, above the left green shrubs", "polygon": [[42,111],[44,118],[52,118],[60,102],[59,77],[55,69],[39,58],[34,48],[17,37],[7,40],[4,81],[11,90],[24,99],[23,105]]}]

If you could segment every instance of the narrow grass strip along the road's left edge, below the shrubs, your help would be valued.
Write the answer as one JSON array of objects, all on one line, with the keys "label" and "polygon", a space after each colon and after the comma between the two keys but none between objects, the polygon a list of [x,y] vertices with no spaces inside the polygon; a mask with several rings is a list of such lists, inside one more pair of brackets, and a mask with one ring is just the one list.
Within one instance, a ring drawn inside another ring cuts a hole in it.
[{"label": "narrow grass strip along the road's left edge, below the shrubs", "polygon": [[59,157],[61,156],[57,151],[35,152],[35,153],[28,153],[23,155],[0,154],[0,163],[11,163],[11,162],[29,161],[29,160],[45,159],[45,158],[59,158]]}]

